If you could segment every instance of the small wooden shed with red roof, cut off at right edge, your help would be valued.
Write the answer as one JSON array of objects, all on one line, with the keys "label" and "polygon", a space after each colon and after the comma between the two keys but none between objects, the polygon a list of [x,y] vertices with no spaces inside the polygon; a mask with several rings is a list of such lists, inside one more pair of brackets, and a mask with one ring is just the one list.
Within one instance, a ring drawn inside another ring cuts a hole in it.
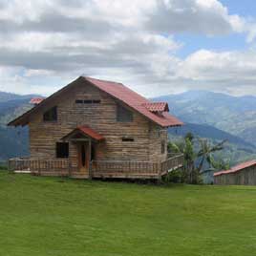
[{"label": "small wooden shed with red roof, cut off at right edge", "polygon": [[240,163],[230,170],[214,174],[215,184],[256,185],[256,160]]}]

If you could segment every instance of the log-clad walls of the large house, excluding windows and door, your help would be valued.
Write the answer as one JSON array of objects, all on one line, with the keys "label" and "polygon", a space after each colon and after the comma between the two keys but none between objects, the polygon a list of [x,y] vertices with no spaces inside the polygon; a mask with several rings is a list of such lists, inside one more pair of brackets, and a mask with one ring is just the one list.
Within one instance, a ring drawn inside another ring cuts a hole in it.
[{"label": "log-clad walls of the large house, excluding windows and door", "polygon": [[[75,99],[100,99],[100,104],[77,104]],[[44,122],[43,113],[57,106],[58,120]],[[167,131],[160,130],[147,118],[134,112],[134,121],[121,123],[116,120],[117,101],[96,87],[81,81],[58,96],[30,120],[32,159],[55,159],[55,142],[79,125],[88,125],[101,134],[105,141],[96,145],[97,160],[165,160],[160,141]],[[123,137],[135,139],[122,141]],[[166,145],[167,146],[167,145]],[[165,150],[167,152],[167,150]],[[77,147],[70,143],[70,158],[77,164]]]}]

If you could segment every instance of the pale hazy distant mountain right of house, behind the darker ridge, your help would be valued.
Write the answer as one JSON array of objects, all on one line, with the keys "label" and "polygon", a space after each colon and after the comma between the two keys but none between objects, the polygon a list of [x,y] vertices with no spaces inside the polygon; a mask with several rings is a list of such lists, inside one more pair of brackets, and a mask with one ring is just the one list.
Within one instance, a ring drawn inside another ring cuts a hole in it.
[{"label": "pale hazy distant mountain right of house, behind the darker ridge", "polygon": [[160,96],[170,112],[188,123],[208,124],[256,145],[256,97],[227,96],[207,91],[189,91]]}]

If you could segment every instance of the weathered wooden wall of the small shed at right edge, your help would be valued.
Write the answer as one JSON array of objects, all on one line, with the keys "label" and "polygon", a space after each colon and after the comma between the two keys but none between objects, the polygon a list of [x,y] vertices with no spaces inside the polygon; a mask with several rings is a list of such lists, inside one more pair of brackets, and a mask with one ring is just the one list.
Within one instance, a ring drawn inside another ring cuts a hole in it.
[{"label": "weathered wooden wall of the small shed at right edge", "polygon": [[256,166],[245,168],[236,173],[215,176],[214,183],[220,185],[256,185]]}]

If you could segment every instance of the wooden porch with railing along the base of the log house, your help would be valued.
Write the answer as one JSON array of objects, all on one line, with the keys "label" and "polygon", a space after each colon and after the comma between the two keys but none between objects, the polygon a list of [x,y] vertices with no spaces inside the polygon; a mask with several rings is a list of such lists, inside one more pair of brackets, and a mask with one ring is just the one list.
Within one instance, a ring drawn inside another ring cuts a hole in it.
[{"label": "wooden porch with railing along the base of the log house", "polygon": [[37,176],[62,176],[76,179],[160,179],[183,166],[182,154],[169,154],[161,162],[133,160],[91,160],[89,172],[81,173],[71,160],[34,160],[16,158],[9,160],[9,170],[14,173],[31,173]]}]

